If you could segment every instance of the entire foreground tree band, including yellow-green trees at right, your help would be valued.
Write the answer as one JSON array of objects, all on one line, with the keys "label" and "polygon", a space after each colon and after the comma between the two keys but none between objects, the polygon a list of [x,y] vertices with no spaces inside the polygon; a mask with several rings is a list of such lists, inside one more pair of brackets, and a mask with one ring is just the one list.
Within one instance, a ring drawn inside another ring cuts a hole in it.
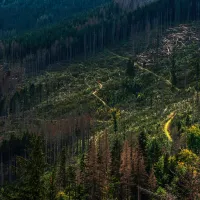
[{"label": "entire foreground tree band, including yellow-green trees at right", "polygon": [[[78,162],[69,156],[67,146],[63,146],[53,167],[46,162],[45,140],[41,136],[31,136],[27,157],[17,158],[18,182],[5,187],[1,191],[2,198],[171,200],[175,199],[172,193],[184,199],[198,197],[199,172],[198,168],[191,166],[198,167],[199,164],[192,152],[183,150],[175,157],[164,152],[158,156],[156,150],[162,148],[152,146],[147,150],[144,133],[140,134],[136,145],[122,141],[118,136],[112,146],[107,131],[99,137],[91,137]],[[155,152],[150,160],[148,151]],[[192,158],[194,165],[190,163]],[[180,171],[184,167],[186,173]]]}]

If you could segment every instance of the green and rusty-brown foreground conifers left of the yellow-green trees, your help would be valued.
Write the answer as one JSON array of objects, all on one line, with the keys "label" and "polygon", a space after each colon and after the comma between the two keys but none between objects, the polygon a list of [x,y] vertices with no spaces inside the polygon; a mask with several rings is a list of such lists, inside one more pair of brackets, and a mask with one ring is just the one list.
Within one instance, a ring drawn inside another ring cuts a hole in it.
[{"label": "green and rusty-brown foreground conifers left of the yellow-green trees", "polygon": [[45,188],[43,176],[48,165],[44,145],[40,136],[31,136],[32,148],[27,151],[27,157],[25,160],[17,157],[15,168],[19,183],[14,188],[11,186],[10,192],[5,188],[4,198],[130,199],[132,196],[150,199],[157,189],[154,171],[147,173],[142,151],[127,141],[122,145],[118,139],[111,150],[107,132],[98,140],[91,138],[78,165],[63,146]]}]

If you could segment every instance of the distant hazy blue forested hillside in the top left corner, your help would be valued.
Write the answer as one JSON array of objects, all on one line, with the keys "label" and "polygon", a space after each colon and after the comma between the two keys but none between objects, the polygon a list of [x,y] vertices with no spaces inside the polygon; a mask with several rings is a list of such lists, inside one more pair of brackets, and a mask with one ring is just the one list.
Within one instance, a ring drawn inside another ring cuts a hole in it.
[{"label": "distant hazy blue forested hillside in the top left corner", "polygon": [[6,33],[14,34],[54,24],[106,2],[107,0],[1,0],[0,37],[6,36]]}]

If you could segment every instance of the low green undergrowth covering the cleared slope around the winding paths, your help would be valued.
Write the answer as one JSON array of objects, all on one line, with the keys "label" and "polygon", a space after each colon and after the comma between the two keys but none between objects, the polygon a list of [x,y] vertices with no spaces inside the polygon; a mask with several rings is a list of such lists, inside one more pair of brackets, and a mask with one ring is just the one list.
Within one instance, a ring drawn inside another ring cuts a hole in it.
[{"label": "low green undergrowth covering the cleared slope around the winding paths", "polygon": [[[180,32],[179,29],[173,31],[174,34]],[[170,33],[166,32],[163,38]],[[195,41],[183,43],[182,46],[174,45],[175,53],[159,54],[156,60],[153,42],[143,48],[143,52],[135,57],[138,65],[134,67],[134,77],[126,73],[128,60],[133,58],[130,40],[113,49],[105,49],[86,61],[31,78],[27,86],[34,83],[35,87],[42,85],[43,89],[42,100],[35,103],[30,115],[34,113],[37,121],[37,118],[52,120],[89,113],[95,122],[95,131],[107,128],[114,133],[111,110],[117,109],[120,113],[117,131],[121,134],[137,133],[142,129],[162,132],[163,123],[171,112],[189,113],[196,106],[194,61],[198,45]],[[162,52],[162,40],[158,48]],[[172,83],[172,54],[175,57],[176,85]],[[146,56],[145,66],[141,55]],[[107,106],[93,95],[95,91]]]}]

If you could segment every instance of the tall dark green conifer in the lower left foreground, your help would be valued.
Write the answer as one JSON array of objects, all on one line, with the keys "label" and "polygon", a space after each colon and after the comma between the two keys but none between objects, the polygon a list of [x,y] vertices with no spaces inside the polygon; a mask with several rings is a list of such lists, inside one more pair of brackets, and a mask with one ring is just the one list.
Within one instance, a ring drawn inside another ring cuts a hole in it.
[{"label": "tall dark green conifer in the lower left foreground", "polygon": [[18,197],[27,200],[43,200],[45,196],[42,176],[46,163],[44,157],[44,144],[41,136],[33,135],[28,160],[18,159],[18,172],[21,177]]}]

